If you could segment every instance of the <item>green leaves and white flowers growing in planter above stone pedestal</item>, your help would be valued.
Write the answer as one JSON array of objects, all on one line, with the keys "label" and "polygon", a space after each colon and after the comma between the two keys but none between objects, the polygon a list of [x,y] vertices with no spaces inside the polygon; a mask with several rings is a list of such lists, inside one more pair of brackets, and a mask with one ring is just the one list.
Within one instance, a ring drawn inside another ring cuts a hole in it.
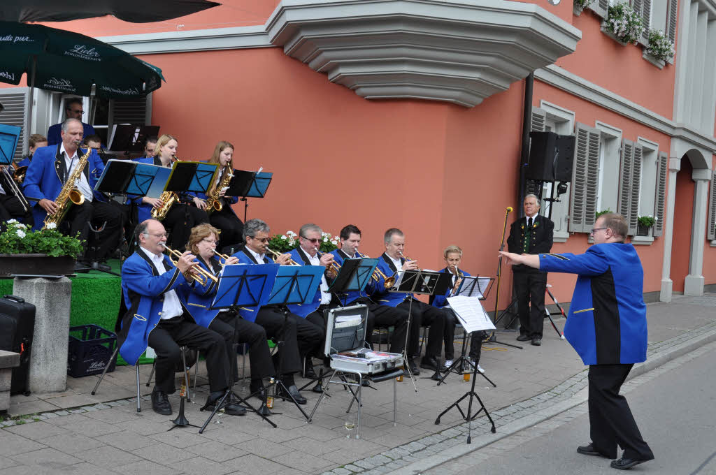
[{"label": "green leaves and white flowers growing in planter above stone pedestal", "polygon": [[68,255],[77,258],[82,253],[82,241],[62,235],[57,225],[33,231],[17,220],[5,223],[0,233],[0,254],[47,254],[53,258]]}]

